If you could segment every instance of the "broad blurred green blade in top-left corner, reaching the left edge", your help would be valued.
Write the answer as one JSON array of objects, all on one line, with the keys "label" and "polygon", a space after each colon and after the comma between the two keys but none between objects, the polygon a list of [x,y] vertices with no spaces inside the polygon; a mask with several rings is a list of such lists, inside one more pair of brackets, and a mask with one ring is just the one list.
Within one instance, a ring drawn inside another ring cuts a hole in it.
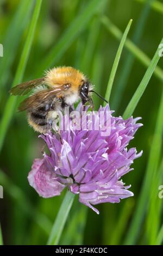
[{"label": "broad blurred green blade in top-left corner, reaching the left edge", "polygon": [[3,74],[1,75],[1,88],[4,87],[8,79],[9,70],[15,58],[18,43],[29,22],[30,11],[33,4],[33,1],[28,0],[21,1],[20,4],[18,4],[18,9],[13,19],[10,21],[10,26],[5,33],[3,42],[1,42],[4,46],[4,57],[0,58],[0,74]]}]

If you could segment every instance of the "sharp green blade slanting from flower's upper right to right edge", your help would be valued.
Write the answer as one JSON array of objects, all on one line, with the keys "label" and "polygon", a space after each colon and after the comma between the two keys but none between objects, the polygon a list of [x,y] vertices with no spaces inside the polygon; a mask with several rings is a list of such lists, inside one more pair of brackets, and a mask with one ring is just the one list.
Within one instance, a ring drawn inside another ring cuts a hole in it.
[{"label": "sharp green blade slanting from flower's upper right to right edge", "polygon": [[[163,38],[162,38],[160,44],[162,44],[162,42],[163,42]],[[123,114],[124,119],[129,118],[133,114],[138,102],[141,99],[141,96],[145,92],[148,82],[151,79],[151,76],[155,70],[155,67],[158,64],[158,61],[160,59],[159,50],[160,49],[157,48],[157,50],[154,54],[154,57],[151,60],[151,63],[149,64],[148,69],[147,69],[145,75],[143,76],[142,81],[139,84],[139,87],[137,87],[136,92],[134,93],[133,97],[131,98],[126,110],[124,111],[124,114]]]}]

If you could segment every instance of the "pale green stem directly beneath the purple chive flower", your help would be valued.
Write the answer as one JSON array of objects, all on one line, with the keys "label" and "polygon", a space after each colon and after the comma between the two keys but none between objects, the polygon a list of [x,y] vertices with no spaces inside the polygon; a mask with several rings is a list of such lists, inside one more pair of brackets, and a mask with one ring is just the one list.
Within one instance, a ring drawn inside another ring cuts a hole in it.
[{"label": "pale green stem directly beneath the purple chive flower", "polygon": [[74,194],[71,193],[70,191],[67,191],[65,198],[61,204],[58,215],[53,224],[51,234],[49,235],[49,238],[47,241],[47,245],[58,245],[60,236],[62,234],[62,230],[64,229],[64,225],[66,223],[68,214],[70,212],[73,200],[74,200]]}]

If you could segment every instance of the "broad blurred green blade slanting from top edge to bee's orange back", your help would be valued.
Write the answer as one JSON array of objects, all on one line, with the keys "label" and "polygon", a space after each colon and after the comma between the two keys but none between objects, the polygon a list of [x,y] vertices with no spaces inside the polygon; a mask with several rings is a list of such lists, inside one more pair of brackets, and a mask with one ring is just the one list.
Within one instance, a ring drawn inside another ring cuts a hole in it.
[{"label": "broad blurred green blade slanting from top edge to bee's orange back", "polygon": [[43,62],[39,64],[39,68],[36,70],[36,77],[39,77],[43,70],[48,69],[58,62],[68,47],[70,47],[72,42],[86,27],[91,17],[99,11],[99,8],[101,8],[104,2],[106,2],[106,0],[91,0],[87,2],[82,13],[73,20],[70,26],[68,26],[66,31],[62,34],[57,44],[55,44],[52,50],[47,54],[47,57],[45,57]]}]

